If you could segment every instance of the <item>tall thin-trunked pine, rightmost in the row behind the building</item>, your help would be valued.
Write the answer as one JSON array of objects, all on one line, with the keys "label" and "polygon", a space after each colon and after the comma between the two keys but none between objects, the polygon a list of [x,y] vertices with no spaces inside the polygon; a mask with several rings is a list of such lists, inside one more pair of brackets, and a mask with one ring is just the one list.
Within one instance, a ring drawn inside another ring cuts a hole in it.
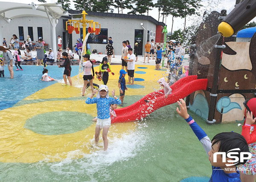
[{"label": "tall thin-trunked pine, rightmost in the row behind the building", "polygon": [[185,18],[185,23],[184,23],[184,30],[183,32],[185,32],[185,28],[186,28],[186,17],[188,15],[193,15],[193,14],[197,14],[199,15],[196,10],[198,10],[201,6],[201,0],[180,0],[181,5],[183,6],[182,11],[180,12],[181,17]]}]

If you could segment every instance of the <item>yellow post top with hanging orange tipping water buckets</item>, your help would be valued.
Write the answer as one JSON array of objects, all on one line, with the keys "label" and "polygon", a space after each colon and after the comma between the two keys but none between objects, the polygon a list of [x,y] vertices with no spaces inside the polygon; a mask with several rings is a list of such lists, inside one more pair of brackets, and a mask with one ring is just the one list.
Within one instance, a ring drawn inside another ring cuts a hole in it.
[{"label": "yellow post top with hanging orange tipping water buckets", "polygon": [[[83,27],[83,38],[85,38],[86,35],[86,26],[87,23],[89,23],[89,28],[88,28],[88,32],[89,33],[95,33],[96,35],[99,34],[100,32],[100,24],[99,22],[94,22],[93,20],[86,20],[85,16],[86,16],[86,12],[82,11],[81,14],[72,14],[75,17],[80,17],[82,19],[80,20],[67,20],[66,21],[66,30],[68,31],[69,34],[72,34],[72,32],[75,30],[76,34],[79,34],[80,32],[80,23],[82,23],[82,27]],[[73,25],[73,26],[72,26]],[[99,25],[99,28],[96,28]]]}]

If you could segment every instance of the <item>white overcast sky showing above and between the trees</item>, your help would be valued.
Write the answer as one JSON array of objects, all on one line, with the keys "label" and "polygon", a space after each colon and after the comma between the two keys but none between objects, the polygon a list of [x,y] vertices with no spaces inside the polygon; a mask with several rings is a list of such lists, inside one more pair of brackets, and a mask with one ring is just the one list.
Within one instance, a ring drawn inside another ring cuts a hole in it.
[{"label": "white overcast sky showing above and between the trees", "polygon": [[[14,2],[14,3],[20,3],[20,0],[1,0],[5,2]],[[57,0],[52,0],[53,2],[57,2]],[[72,0],[71,1],[71,9],[75,9],[75,5]],[[23,0],[22,3],[32,3],[32,0]],[[34,1],[35,4],[40,4],[38,1]],[[47,0],[47,3],[51,3],[51,0]],[[157,3],[157,0],[153,0],[153,3]],[[198,13],[201,14],[200,16],[190,16],[187,17],[186,19],[186,27],[195,25],[195,24],[200,24],[202,22],[202,15],[204,14],[204,11],[211,12],[211,11],[218,11],[221,12],[222,9],[227,10],[227,14],[230,13],[234,9],[234,5],[236,3],[236,0],[202,0],[201,4],[203,7],[201,7],[198,10]],[[123,13],[127,13],[130,10],[123,10]],[[117,9],[114,9],[113,13],[118,13]],[[146,14],[145,14],[146,15]],[[154,19],[158,20],[158,10],[157,8],[153,8],[148,12],[148,15],[153,17]],[[163,17],[160,17],[159,21],[162,21]],[[184,19],[180,17],[174,18],[174,23],[173,23],[173,31],[182,29],[184,28]],[[256,18],[254,18],[252,21],[256,21]],[[164,23],[166,22],[167,29],[168,31],[171,31],[172,28],[172,16],[169,15],[167,18],[164,18]]]}]

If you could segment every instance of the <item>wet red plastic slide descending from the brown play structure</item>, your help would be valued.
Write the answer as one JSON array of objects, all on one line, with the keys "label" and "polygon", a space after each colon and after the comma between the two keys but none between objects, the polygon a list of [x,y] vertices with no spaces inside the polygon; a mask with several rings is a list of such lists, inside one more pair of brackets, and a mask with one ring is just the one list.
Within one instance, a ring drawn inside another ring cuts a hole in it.
[{"label": "wet red plastic slide descending from the brown play structure", "polygon": [[[172,94],[169,94],[168,98],[164,97],[164,91],[159,90],[152,92],[139,101],[125,108],[115,109],[116,118],[111,123],[115,122],[131,122],[143,119],[155,110],[173,104],[179,99],[183,99],[194,91],[206,90],[207,79],[198,79],[197,76],[183,77],[173,85]],[[145,100],[152,100],[146,103]]]}]

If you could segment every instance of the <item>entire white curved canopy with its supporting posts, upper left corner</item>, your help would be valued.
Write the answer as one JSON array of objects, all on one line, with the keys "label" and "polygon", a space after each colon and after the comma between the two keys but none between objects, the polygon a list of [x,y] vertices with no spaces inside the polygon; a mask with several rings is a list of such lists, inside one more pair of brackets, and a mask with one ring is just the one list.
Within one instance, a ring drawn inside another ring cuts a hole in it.
[{"label": "entire white curved canopy with its supporting posts, upper left corner", "polygon": [[[68,16],[68,12],[61,7],[61,4],[58,3],[23,4],[0,1],[0,19],[3,19],[6,23],[10,23],[12,19],[18,17],[48,18],[52,26],[52,48],[54,52],[57,52],[55,27],[61,16]],[[4,25],[0,25],[0,40],[3,40],[1,33],[3,26]]]}]

